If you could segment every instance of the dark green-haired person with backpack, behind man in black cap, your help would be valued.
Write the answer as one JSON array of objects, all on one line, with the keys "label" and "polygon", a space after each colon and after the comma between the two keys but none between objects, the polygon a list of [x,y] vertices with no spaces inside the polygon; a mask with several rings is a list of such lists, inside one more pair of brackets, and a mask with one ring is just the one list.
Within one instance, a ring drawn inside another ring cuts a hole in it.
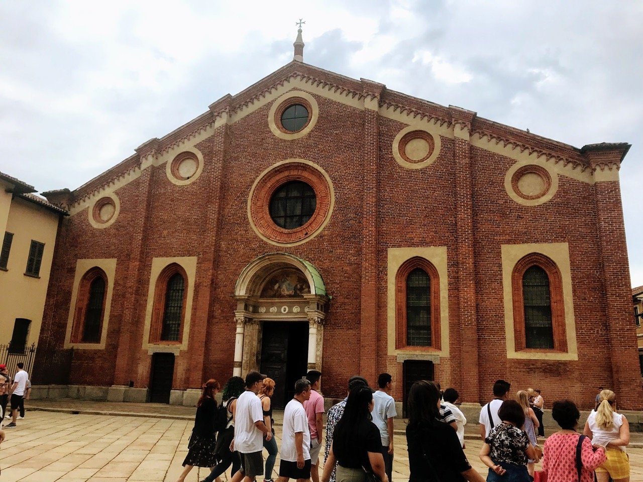
[{"label": "dark green-haired person with backpack, behind man in black cap", "polygon": [[217,436],[217,445],[215,445],[214,452],[217,460],[217,465],[213,467],[212,472],[201,482],[221,482],[221,474],[228,470],[232,465],[231,475],[237,473],[241,467],[241,459],[239,452],[232,451],[230,445],[235,436],[235,411],[237,409],[237,398],[244,392],[246,382],[241,377],[231,377],[228,383],[223,388],[222,393],[222,406],[226,408],[228,413],[228,423],[226,428],[219,432]]}]

